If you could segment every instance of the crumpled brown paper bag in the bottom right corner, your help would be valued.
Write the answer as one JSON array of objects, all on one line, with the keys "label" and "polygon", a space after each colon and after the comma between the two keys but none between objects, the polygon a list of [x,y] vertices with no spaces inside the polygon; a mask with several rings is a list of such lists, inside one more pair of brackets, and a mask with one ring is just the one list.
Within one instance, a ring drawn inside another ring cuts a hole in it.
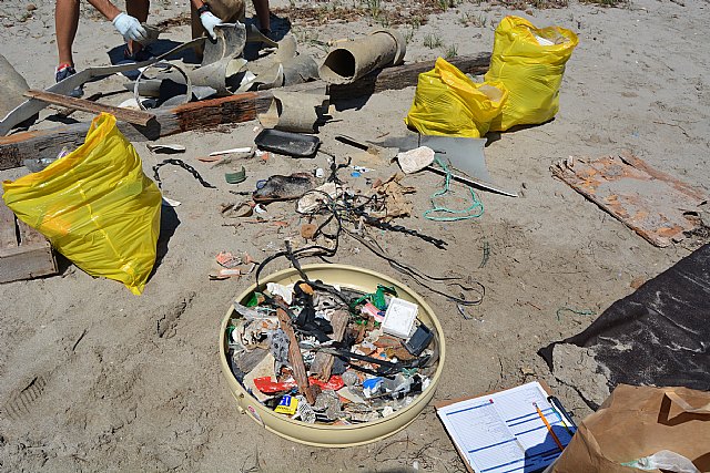
[{"label": "crumpled brown paper bag in the bottom right corner", "polygon": [[710,392],[619,384],[581,421],[551,472],[639,473],[621,463],[660,450],[679,453],[701,472],[710,472]]}]

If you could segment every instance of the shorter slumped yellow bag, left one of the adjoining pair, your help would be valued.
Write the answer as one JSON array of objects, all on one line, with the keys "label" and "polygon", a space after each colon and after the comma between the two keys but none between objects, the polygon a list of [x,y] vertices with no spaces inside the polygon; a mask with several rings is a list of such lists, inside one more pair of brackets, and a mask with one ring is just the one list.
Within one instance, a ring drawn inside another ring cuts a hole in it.
[{"label": "shorter slumped yellow bag, left one of the adjoining pair", "polygon": [[507,96],[503,84],[477,84],[438,58],[433,70],[419,74],[405,123],[425,135],[478,138],[488,133]]}]

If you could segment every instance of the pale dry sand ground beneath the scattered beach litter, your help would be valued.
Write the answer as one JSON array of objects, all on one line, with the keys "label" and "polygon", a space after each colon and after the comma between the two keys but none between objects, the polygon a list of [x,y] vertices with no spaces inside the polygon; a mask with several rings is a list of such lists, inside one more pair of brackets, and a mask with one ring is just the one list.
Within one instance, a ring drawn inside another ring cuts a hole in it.
[{"label": "pale dry sand ground beneath the scattered beach litter", "polygon": [[[600,8],[574,1],[561,9],[520,11],[464,2],[413,30],[408,61],[434,59],[449,47],[458,54],[489,52],[495,25],[509,13],[538,25],[569,28],[580,38],[567,66],[557,119],[504,134],[486,148],[491,174],[500,185],[520,191],[520,198],[479,193],[485,205],[481,218],[433,223],[420,216],[439,178],[416,175],[406,179],[418,189],[413,197],[414,216],[402,223],[446,239],[448,249],[375,233],[383,247],[402,260],[430,274],[483,282],[486,298],[471,310],[476,320],[464,320],[454,305],[352,240],[344,240],[333,258],[390,275],[429,301],[448,348],[435,399],[544,379],[578,418],[588,414],[574,377],[567,372],[567,384],[559,382],[536,354],[538,348],[577,333],[592,320],[567,311],[558,320],[557,309],[600,313],[633,290],[632,280],[651,278],[689,254],[683,245],[652,247],[548,171],[551,163],[569,155],[627,150],[708,191],[710,49],[703,38],[710,3],[681,3],[635,0],[621,8]],[[155,2],[152,18],[176,17],[186,11],[186,4]],[[53,82],[55,65],[53,4],[37,2],[38,10],[21,22],[26,6],[18,0],[2,2],[0,49],[30,86],[42,89]],[[78,68],[105,64],[106,51],[120,44],[120,37],[109,22],[84,8],[74,45]],[[466,19],[471,24],[464,24]],[[294,24],[302,44],[314,51],[318,41],[369,28],[366,19]],[[439,37],[444,45],[427,48],[429,34]],[[187,35],[187,27],[179,25],[165,38],[184,41]],[[87,93],[121,89],[121,81],[112,78],[89,84]],[[323,128],[325,147],[344,158],[353,150],[334,142],[335,134],[365,138],[403,134],[413,95],[414,88],[382,93],[359,107],[342,111],[339,121]],[[111,100],[118,103],[126,97],[124,93]],[[217,329],[233,297],[253,277],[210,281],[211,261],[221,250],[247,250],[264,258],[284,237],[295,235],[300,223],[291,204],[275,204],[267,215],[283,217],[290,226],[224,226],[219,204],[234,202],[236,196],[227,193],[223,169],[195,157],[250,144],[254,126],[246,123],[162,140],[185,145],[189,151],[181,157],[220,189],[200,187],[182,169],[163,168],[165,195],[182,202],[176,208],[180,224],[141,297],[119,282],[93,279],[65,261],[61,276],[0,287],[1,471],[392,472],[414,464],[426,471],[464,470],[432,407],[397,435],[347,450],[292,443],[237,413],[220,372]],[[163,157],[148,152],[144,143],[136,144],[136,150],[149,173]],[[248,179],[239,188],[252,189],[256,179],[277,172],[324,165],[323,155],[314,161],[251,162]],[[386,176],[389,171],[378,173]],[[16,178],[23,172],[11,169],[0,177]],[[485,243],[490,256],[479,268]],[[270,270],[282,267],[285,263],[278,261]],[[597,392],[598,388],[581,390]]]}]

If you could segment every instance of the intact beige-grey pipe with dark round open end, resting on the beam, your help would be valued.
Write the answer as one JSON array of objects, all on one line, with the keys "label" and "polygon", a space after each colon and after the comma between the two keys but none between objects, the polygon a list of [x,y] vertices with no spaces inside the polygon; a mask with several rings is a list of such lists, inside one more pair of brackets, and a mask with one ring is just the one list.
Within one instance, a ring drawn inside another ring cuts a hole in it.
[{"label": "intact beige-grey pipe with dark round open end, resting on the beam", "polygon": [[398,31],[376,30],[366,37],[338,43],[318,72],[327,83],[349,84],[374,70],[400,64],[406,48]]}]

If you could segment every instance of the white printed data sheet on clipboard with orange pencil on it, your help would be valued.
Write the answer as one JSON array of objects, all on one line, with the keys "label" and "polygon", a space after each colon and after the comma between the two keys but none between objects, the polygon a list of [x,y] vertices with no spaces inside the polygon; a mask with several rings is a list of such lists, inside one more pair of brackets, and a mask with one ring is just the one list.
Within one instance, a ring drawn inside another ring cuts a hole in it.
[{"label": "white printed data sheet on clipboard with orange pencil on it", "polygon": [[571,434],[538,382],[456,402],[437,414],[477,473],[531,473],[561,453],[534,403],[567,446]]}]

